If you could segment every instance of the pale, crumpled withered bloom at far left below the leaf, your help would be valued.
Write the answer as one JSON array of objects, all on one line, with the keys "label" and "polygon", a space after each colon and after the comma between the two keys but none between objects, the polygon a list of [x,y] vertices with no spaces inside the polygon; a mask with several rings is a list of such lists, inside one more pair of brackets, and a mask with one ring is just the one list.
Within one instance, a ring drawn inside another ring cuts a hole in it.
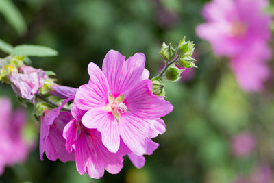
[{"label": "pale, crumpled withered bloom at far left below the leaf", "polygon": [[42,69],[34,69],[25,65],[21,66],[19,72],[12,72],[8,76],[10,82],[12,82],[12,88],[17,95],[33,100],[34,95],[39,93],[39,88],[44,85],[47,75]]}]

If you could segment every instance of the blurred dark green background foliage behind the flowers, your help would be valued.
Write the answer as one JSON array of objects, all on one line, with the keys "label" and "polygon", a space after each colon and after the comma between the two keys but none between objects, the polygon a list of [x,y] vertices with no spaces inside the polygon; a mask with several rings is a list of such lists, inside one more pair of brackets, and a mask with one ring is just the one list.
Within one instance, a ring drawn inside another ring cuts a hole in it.
[{"label": "blurred dark green background foliage behind the flowers", "polygon": [[[88,82],[88,63],[101,66],[110,49],[125,56],[145,53],[146,68],[153,77],[162,66],[162,42],[177,45],[183,36],[196,44],[198,68],[186,73],[181,82],[164,81],[166,99],[174,110],[164,117],[166,132],[155,138],[160,147],[146,156],[142,169],[125,158],[121,173],[105,172],[101,180],[94,180],[79,175],[75,162],[40,161],[39,124],[28,106],[24,133],[33,142],[33,150],[23,164],[6,167],[0,182],[225,183],[249,177],[259,179],[258,183],[274,181],[273,72],[260,93],[246,93],[238,86],[227,58],[214,56],[209,43],[195,33],[195,27],[204,22],[200,12],[206,1],[12,2],[23,15],[27,32],[18,34],[1,14],[0,38],[12,45],[45,45],[58,50],[59,55],[52,58],[32,58],[32,66],[54,71],[59,84],[77,88]],[[270,44],[273,47],[273,41]],[[273,71],[273,62],[269,68]],[[0,85],[0,96],[9,97],[14,108],[19,105],[8,85]],[[248,152],[239,156],[235,148]]]}]

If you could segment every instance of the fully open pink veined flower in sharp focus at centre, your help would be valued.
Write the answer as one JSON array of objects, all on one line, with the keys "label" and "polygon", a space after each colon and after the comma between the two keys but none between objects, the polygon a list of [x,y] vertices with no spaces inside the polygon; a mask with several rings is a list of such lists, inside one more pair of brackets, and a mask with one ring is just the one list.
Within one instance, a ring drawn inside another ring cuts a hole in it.
[{"label": "fully open pink veined flower in sharp focus at centre", "polygon": [[153,95],[144,68],[144,54],[125,61],[125,56],[111,50],[103,60],[103,71],[94,63],[88,65],[90,80],[75,95],[76,106],[87,110],[83,125],[101,132],[103,145],[113,153],[122,139],[134,154],[145,154],[154,124],[173,110],[168,101]]}]

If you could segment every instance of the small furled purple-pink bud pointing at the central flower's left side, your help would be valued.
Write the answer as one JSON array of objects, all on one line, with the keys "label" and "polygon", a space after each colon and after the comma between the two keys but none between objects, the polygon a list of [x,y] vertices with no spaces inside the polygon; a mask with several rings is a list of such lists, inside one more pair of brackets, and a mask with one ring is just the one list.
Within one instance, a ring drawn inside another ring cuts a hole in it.
[{"label": "small furled purple-pink bud pointing at the central flower's left side", "polygon": [[75,95],[75,93],[77,91],[77,88],[71,88],[71,87],[62,86],[59,84],[54,84],[49,87],[51,88],[51,91],[49,91],[49,94],[59,97],[61,99],[67,99],[67,98]]}]

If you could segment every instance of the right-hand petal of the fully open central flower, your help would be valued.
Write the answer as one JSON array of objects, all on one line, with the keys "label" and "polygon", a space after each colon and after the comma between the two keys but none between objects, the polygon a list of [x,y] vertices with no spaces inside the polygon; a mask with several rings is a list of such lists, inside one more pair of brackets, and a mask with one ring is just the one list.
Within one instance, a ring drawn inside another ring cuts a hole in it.
[{"label": "right-hand petal of the fully open central flower", "polygon": [[173,110],[169,101],[153,95],[151,87],[151,80],[143,80],[125,96],[125,105],[132,114],[141,118],[156,119]]}]

